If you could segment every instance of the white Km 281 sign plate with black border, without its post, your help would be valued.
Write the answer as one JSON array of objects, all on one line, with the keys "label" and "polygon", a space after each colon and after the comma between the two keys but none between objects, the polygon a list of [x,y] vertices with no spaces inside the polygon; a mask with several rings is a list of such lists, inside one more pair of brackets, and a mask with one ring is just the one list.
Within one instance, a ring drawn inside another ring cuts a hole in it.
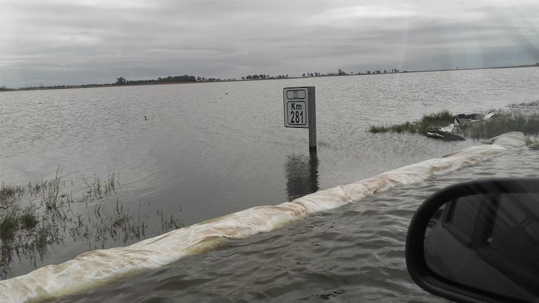
[{"label": "white Km 281 sign plate with black border, without its post", "polygon": [[308,88],[284,88],[285,127],[309,128]]}]

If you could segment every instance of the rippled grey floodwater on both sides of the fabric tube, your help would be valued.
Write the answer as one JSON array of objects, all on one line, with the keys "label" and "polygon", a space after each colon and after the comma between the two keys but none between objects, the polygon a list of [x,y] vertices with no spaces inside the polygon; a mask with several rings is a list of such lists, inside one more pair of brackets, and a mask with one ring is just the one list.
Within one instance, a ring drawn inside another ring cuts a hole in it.
[{"label": "rippled grey floodwater on both sides of the fabric tube", "polygon": [[[60,166],[77,196],[84,180],[116,172],[122,189],[91,203],[120,201],[142,212],[150,238],[155,210],[195,224],[479,145],[367,130],[441,109],[486,112],[535,101],[538,79],[538,68],[521,68],[2,93],[0,179],[25,184]],[[283,126],[282,91],[291,86],[316,86],[316,158],[306,130]],[[413,211],[448,184],[537,176],[538,168],[536,151],[509,151],[60,302],[432,302],[405,270]],[[37,266],[71,260],[88,246],[67,241]],[[32,269],[21,262],[13,275]]]}]

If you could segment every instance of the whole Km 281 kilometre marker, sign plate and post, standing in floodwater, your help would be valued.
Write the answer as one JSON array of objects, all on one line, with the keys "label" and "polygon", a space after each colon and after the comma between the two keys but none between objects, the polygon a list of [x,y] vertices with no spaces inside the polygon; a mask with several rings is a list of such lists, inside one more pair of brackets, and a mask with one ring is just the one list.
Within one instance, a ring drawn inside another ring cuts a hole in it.
[{"label": "whole Km 281 kilometre marker, sign plate and post, standing in floodwater", "polygon": [[316,153],[316,94],[314,86],[283,88],[285,127],[309,128],[309,152]]}]

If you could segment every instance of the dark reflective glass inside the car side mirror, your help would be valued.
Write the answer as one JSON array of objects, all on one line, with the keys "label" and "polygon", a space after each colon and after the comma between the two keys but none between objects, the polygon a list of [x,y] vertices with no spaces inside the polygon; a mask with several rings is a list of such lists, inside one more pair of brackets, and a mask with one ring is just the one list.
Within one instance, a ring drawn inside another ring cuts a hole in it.
[{"label": "dark reflective glass inside the car side mirror", "polygon": [[498,295],[539,297],[539,193],[460,196],[431,217],[427,267],[456,283]]}]

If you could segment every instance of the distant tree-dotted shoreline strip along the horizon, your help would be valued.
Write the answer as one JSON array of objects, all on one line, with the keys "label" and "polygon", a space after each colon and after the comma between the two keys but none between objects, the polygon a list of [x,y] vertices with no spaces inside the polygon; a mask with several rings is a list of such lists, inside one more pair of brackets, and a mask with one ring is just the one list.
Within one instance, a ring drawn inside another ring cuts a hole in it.
[{"label": "distant tree-dotted shoreline strip along the horizon", "polygon": [[265,80],[283,80],[283,79],[304,79],[304,78],[320,78],[326,76],[370,76],[375,74],[407,74],[407,73],[418,73],[418,72],[451,72],[451,71],[460,71],[460,70],[474,70],[474,69],[510,69],[510,68],[522,68],[522,67],[539,67],[539,63],[535,65],[516,65],[516,66],[507,66],[507,67],[475,67],[475,68],[455,68],[455,69],[425,69],[425,70],[415,70],[415,71],[398,71],[398,72],[372,72],[372,73],[358,73],[358,74],[322,74],[319,76],[297,76],[297,77],[286,77],[278,78],[271,77],[266,79],[205,79],[202,81],[178,81],[178,82],[168,82],[168,83],[140,83],[140,81],[145,80],[136,80],[138,83],[104,83],[104,84],[81,84],[81,85],[60,85],[60,86],[30,86],[24,88],[5,88],[1,87],[0,92],[6,91],[21,91],[21,90],[57,90],[57,89],[72,89],[72,88],[102,88],[102,87],[118,87],[118,86],[148,86],[148,85],[164,85],[164,84],[185,84],[185,83],[214,83],[214,82],[238,82],[238,81],[265,81]]}]

